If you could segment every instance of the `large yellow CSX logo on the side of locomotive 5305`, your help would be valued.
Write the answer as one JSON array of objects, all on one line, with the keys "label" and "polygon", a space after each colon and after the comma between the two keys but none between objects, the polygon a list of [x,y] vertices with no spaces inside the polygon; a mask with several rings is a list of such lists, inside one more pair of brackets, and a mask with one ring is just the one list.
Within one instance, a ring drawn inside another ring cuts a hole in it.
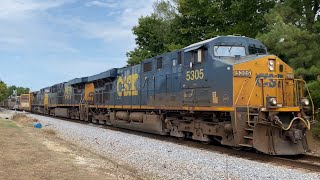
[{"label": "large yellow CSX logo on the side of locomotive 5305", "polygon": [[131,74],[124,77],[119,76],[117,80],[118,96],[137,96],[138,90],[136,88],[136,82],[138,78],[138,74]]}]

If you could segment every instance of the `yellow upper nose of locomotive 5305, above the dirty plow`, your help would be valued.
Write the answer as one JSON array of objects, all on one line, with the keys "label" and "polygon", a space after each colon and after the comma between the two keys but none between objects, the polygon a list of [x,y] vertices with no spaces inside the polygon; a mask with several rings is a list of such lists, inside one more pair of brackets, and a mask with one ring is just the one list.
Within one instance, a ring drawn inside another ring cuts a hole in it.
[{"label": "yellow upper nose of locomotive 5305, above the dirty plow", "polygon": [[273,55],[234,66],[236,105],[258,107],[294,106],[293,69]]}]

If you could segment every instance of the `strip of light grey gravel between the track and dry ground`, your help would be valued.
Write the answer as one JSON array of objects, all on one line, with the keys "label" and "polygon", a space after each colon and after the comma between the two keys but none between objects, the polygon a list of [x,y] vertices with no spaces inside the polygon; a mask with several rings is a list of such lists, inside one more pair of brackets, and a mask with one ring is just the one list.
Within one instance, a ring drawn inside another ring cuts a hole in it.
[{"label": "strip of light grey gravel between the track and dry ground", "polygon": [[320,179],[320,173],[264,164],[84,124],[29,115],[58,136],[154,179]]}]

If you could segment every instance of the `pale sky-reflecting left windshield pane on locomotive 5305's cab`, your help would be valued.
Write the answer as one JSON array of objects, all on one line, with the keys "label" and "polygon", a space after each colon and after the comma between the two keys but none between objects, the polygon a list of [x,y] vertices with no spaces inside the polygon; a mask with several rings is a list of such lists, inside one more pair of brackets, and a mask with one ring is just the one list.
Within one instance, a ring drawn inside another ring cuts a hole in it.
[{"label": "pale sky-reflecting left windshield pane on locomotive 5305's cab", "polygon": [[243,46],[214,46],[215,56],[246,56],[246,50]]}]

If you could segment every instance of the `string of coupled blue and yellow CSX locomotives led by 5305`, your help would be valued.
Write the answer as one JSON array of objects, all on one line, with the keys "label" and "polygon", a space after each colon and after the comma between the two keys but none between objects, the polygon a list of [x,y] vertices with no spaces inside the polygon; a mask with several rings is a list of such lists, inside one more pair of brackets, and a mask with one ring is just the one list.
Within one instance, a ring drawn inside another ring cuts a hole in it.
[{"label": "string of coupled blue and yellow CSX locomotives led by 5305", "polygon": [[306,88],[258,40],[218,36],[138,65],[43,88],[30,94],[29,110],[295,155],[309,151],[315,122]]}]

